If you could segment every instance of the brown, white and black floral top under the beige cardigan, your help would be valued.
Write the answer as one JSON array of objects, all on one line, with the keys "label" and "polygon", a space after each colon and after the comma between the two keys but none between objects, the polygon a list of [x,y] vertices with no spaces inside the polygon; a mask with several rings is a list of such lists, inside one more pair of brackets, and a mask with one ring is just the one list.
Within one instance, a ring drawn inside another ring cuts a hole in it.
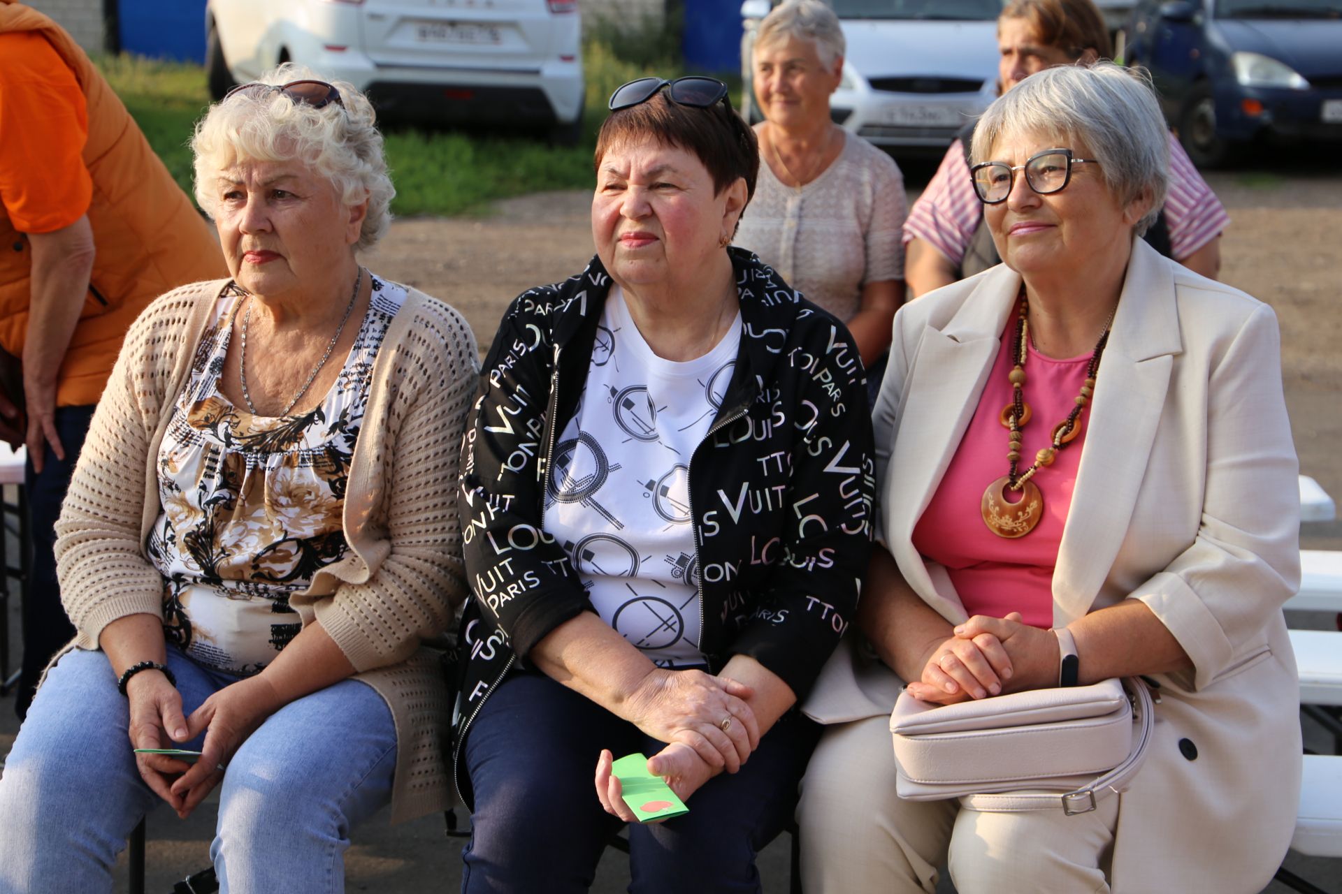
[{"label": "brown, white and black floral top under the beige cardigan", "polygon": [[289,596],[345,552],[341,512],[373,361],[405,290],[372,277],[354,346],[317,407],[254,416],[219,390],[234,314],[227,288],[162,445],[162,513],[146,541],[164,576],[169,642],[217,670],[259,673],[302,629]]}]

